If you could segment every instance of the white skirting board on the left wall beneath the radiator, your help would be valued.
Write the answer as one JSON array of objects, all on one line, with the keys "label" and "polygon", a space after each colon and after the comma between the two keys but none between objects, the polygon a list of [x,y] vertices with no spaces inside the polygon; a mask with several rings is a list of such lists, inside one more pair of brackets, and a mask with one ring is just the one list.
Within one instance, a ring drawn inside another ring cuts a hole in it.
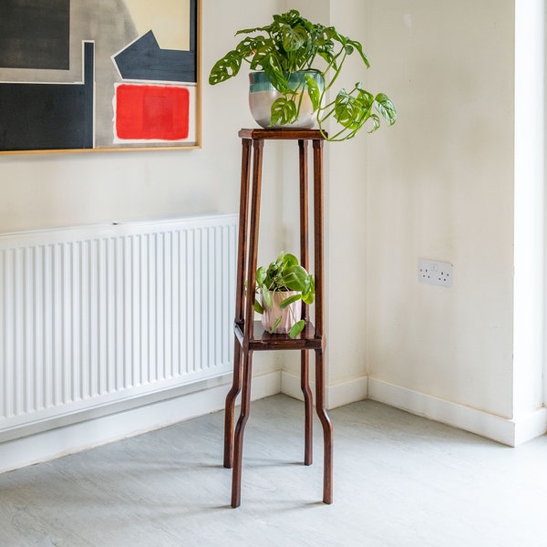
[{"label": "white skirting board on the left wall beneath the radiator", "polygon": [[[2,442],[0,472],[56,459],[221,410],[231,379],[230,375],[220,386]],[[253,377],[252,397],[269,397],[279,393],[280,388],[281,374],[278,371]],[[222,459],[222,454],[219,459]]]}]

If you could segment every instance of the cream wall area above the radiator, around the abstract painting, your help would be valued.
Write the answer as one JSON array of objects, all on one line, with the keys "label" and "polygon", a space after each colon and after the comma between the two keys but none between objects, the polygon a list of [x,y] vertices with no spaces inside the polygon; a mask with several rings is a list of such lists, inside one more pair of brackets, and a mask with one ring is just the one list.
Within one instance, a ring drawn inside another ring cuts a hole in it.
[{"label": "cream wall area above the radiator, around the abstract painting", "polygon": [[202,2],[201,150],[0,156],[0,232],[237,211],[237,130],[253,122],[247,82],[236,78],[212,88],[207,76],[212,63],[234,45],[234,30],[267,20],[277,2],[241,5],[244,9]]}]

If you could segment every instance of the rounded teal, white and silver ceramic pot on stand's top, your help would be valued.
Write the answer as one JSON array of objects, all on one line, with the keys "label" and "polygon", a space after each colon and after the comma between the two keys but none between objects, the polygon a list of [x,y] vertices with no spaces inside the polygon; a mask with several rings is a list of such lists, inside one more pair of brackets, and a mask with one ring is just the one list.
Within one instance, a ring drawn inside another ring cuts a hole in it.
[{"label": "rounded teal, white and silver ceramic pot on stand's top", "polygon": [[[282,127],[297,129],[315,128],[317,121],[313,113],[312,101],[305,89],[305,75],[313,77],[319,89],[323,91],[325,85],[323,77],[315,70],[293,72],[289,77],[289,87],[295,91],[300,90],[300,93],[304,93],[300,116],[294,123],[283,126],[278,124],[270,126],[272,104],[276,98],[280,98],[282,95],[270,83],[264,72],[251,72],[249,74],[249,107],[251,108],[253,118],[259,126],[264,129],[279,129]],[[295,102],[298,104],[298,99]]]}]

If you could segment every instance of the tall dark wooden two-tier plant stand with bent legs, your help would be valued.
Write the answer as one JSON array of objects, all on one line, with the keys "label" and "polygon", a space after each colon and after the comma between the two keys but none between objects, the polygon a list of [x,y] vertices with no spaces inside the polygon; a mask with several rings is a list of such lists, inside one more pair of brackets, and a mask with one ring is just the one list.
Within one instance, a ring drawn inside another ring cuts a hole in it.
[{"label": "tall dark wooden two-tier plant stand with bent legs", "polygon": [[[315,351],[315,409],[323,427],[324,480],[323,501],[333,502],[333,428],[325,409],[325,287],[323,259],[323,143],[320,131],[315,129],[241,129],[242,180],[240,194],[239,241],[237,255],[235,298],[235,345],[233,382],[226,397],[224,422],[224,467],[232,471],[232,507],[241,504],[243,432],[251,406],[251,379],[253,352],[294,349],[301,352],[301,389],[304,394],[304,464],[312,463],[313,396],[309,386],[309,351]],[[313,199],[314,199],[314,275],[315,325],[308,320],[307,306],[303,306],[306,326],[294,339],[289,335],[270,335],[264,332],[260,321],[254,321],[254,291],[245,298],[244,283],[254,287],[258,227],[262,185],[264,140],[297,140],[300,175],[300,263],[309,271],[308,249],[308,142],[313,145]],[[253,145],[253,169],[251,149]],[[250,195],[251,172],[253,185]],[[233,428],[235,399],[242,391],[241,414]]]}]

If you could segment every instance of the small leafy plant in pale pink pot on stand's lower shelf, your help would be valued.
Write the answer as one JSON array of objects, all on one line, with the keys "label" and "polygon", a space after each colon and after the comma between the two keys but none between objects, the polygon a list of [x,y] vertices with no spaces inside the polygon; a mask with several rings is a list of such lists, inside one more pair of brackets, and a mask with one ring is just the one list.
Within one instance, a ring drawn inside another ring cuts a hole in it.
[{"label": "small leafy plant in pale pink pot on stand's lower shelf", "polygon": [[[254,309],[262,314],[262,323],[270,334],[299,335],[305,326],[302,302],[313,304],[315,280],[291,253],[279,253],[273,263],[256,270]],[[262,300],[262,302],[261,302]]]}]

